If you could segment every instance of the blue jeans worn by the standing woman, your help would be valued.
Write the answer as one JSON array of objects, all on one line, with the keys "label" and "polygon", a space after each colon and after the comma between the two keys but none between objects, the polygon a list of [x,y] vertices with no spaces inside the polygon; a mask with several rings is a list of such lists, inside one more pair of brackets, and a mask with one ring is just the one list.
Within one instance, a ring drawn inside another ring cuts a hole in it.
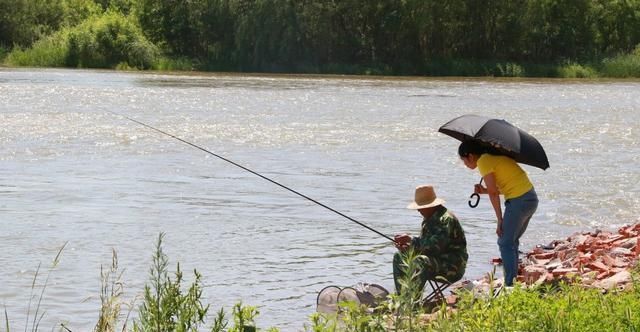
[{"label": "blue jeans worn by the standing woman", "polygon": [[538,195],[535,189],[531,189],[522,196],[506,200],[504,205],[502,236],[498,238],[498,247],[504,268],[504,284],[512,286],[513,279],[518,275],[520,237],[538,208]]}]

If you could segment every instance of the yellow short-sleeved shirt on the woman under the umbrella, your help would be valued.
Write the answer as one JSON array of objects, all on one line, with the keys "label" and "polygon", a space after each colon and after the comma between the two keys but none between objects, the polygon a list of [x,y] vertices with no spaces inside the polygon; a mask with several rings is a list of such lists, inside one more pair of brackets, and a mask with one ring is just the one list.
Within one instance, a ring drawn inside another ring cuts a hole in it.
[{"label": "yellow short-sleeved shirt on the woman under the umbrella", "polygon": [[488,153],[478,159],[478,170],[483,177],[493,173],[496,186],[505,199],[522,196],[533,188],[527,173],[515,160],[506,156],[494,156]]}]

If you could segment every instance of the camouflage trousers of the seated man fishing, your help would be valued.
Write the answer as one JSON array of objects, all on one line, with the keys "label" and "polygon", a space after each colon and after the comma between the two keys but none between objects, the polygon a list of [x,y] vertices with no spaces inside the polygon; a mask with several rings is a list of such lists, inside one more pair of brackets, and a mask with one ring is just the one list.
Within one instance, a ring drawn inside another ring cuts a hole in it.
[{"label": "camouflage trousers of the seated man fishing", "polygon": [[[393,282],[396,287],[396,293],[400,294],[402,288],[401,280],[405,278],[407,266],[403,262],[404,255],[397,252],[393,255]],[[416,258],[416,265],[418,268],[417,280],[419,290],[422,292],[427,280],[434,280],[438,282],[456,282],[462,279],[464,275],[465,267],[457,266],[455,264],[447,264],[438,259],[427,256],[419,256]]]}]

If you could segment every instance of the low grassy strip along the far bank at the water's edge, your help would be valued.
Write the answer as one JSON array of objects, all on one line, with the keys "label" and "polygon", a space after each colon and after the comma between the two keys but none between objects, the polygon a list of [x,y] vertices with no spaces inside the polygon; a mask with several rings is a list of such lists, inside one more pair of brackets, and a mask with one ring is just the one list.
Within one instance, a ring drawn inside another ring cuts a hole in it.
[{"label": "low grassy strip along the far bank at the water's edge", "polygon": [[[51,42],[52,43],[52,42]],[[69,51],[64,45],[36,45],[26,50],[0,52],[0,66],[46,67],[46,68],[107,68],[115,70],[151,70],[160,72],[230,72],[245,73],[236,68],[216,68],[197,60],[169,58],[153,55],[148,51],[145,58],[131,61],[105,63],[101,58],[85,59],[82,63],[69,65]],[[138,63],[138,65],[131,64]],[[249,71],[259,74],[313,74],[313,75],[365,75],[365,76],[426,76],[426,77],[517,77],[517,78],[640,78],[640,48],[633,53],[619,55],[586,63],[518,63],[500,60],[445,59],[425,63],[417,72],[396,71],[384,65],[330,64],[305,66],[303,68],[280,68],[272,71]]]}]

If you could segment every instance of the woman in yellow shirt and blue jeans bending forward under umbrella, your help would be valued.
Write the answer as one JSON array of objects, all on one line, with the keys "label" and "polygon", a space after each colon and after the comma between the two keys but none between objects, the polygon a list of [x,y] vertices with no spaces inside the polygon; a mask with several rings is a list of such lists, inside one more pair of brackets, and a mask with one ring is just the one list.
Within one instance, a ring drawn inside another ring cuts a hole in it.
[{"label": "woman in yellow shirt and blue jeans bending forward under umbrella", "polygon": [[[519,240],[538,208],[536,191],[527,173],[515,160],[487,153],[476,141],[462,142],[458,147],[458,155],[468,168],[478,168],[484,179],[486,187],[476,184],[474,192],[489,194],[498,220],[496,234],[504,268],[504,284],[512,286],[518,275]],[[504,215],[500,202],[501,194],[505,198]]]}]

